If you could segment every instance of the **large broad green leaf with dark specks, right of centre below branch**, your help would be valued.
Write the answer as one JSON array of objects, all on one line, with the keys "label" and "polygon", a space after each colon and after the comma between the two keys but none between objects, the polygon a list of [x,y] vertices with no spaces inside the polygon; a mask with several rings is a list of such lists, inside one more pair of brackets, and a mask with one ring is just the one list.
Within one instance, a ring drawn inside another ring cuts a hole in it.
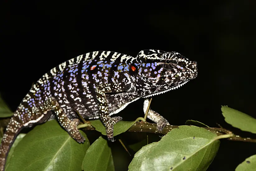
[{"label": "large broad green leaf with dark specks, right of centre below branch", "polygon": [[179,126],[168,132],[146,155],[140,170],[205,171],[219,149],[220,141],[216,140],[220,138],[223,136],[201,127]]}]

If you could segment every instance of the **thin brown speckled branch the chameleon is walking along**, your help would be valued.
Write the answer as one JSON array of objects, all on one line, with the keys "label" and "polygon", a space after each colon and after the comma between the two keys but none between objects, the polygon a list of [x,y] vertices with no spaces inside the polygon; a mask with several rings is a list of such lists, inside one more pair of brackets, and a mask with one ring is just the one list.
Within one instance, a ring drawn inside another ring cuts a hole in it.
[{"label": "thin brown speckled branch the chameleon is walking along", "polygon": [[[162,131],[162,134],[167,134],[168,132],[170,132],[172,129],[174,128],[178,128],[179,126],[175,126],[175,125],[166,125]],[[231,131],[224,129],[224,128],[215,128],[215,127],[203,127],[204,129],[215,133],[216,135],[226,135],[226,134],[231,134],[233,135],[233,137],[231,138],[227,138],[227,140],[231,140],[231,141],[244,141],[244,142],[255,142],[256,143],[256,139],[251,139],[251,138],[243,138],[240,137],[238,135],[233,134]],[[89,127],[85,127],[83,128],[83,130],[95,130],[94,127],[89,126]],[[149,133],[158,133],[158,131],[156,130],[156,123],[148,123],[148,122],[136,122],[132,127],[130,127],[128,130],[128,132],[149,132]]]}]

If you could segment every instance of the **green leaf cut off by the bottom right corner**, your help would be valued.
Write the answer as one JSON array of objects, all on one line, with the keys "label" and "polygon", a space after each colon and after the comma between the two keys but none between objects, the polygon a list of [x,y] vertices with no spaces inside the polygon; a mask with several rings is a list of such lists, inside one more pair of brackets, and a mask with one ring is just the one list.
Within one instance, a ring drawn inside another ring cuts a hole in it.
[{"label": "green leaf cut off by the bottom right corner", "polygon": [[235,171],[254,171],[256,168],[256,155],[252,155],[240,163]]}]

